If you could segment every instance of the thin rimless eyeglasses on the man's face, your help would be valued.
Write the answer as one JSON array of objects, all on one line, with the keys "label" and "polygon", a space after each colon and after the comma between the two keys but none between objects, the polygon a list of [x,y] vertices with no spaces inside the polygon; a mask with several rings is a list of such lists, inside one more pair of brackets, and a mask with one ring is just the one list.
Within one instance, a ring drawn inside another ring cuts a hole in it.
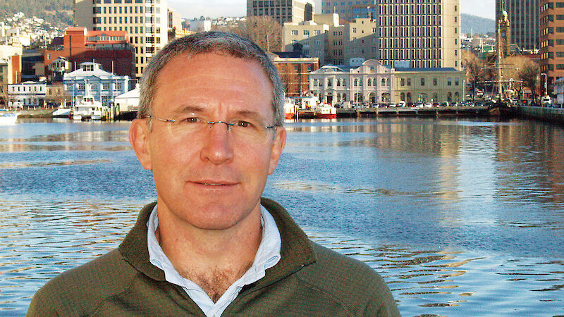
[{"label": "thin rimless eyeglasses on the man's face", "polygon": [[163,119],[154,116],[147,118],[163,121],[168,123],[171,134],[175,137],[198,137],[204,134],[206,130],[211,130],[216,123],[224,123],[227,131],[233,135],[238,142],[265,142],[270,130],[276,130],[275,125],[264,125],[259,120],[229,120],[229,121],[212,121],[197,116],[188,116],[180,119]]}]

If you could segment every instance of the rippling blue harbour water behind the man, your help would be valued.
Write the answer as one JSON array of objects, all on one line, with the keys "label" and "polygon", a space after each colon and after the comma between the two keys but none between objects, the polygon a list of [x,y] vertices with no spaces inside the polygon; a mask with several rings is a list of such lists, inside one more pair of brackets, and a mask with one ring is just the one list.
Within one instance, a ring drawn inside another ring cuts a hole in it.
[{"label": "rippling blue harbour water behind the man", "polygon": [[[116,247],[154,200],[127,122],[0,127],[0,316]],[[529,120],[286,123],[264,195],[365,261],[402,316],[564,315],[564,130]]]}]

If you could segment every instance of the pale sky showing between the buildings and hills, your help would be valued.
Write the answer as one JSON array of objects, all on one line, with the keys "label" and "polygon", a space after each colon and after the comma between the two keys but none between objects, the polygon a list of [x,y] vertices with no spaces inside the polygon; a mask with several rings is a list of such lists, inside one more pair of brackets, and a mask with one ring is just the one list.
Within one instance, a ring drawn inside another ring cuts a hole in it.
[{"label": "pale sky showing between the buildings and hills", "polygon": [[[183,18],[200,16],[218,18],[220,16],[244,16],[247,14],[247,0],[168,0],[168,6],[180,13]],[[321,0],[315,0],[316,11],[321,8]],[[460,0],[460,12],[495,18],[495,0]]]}]

